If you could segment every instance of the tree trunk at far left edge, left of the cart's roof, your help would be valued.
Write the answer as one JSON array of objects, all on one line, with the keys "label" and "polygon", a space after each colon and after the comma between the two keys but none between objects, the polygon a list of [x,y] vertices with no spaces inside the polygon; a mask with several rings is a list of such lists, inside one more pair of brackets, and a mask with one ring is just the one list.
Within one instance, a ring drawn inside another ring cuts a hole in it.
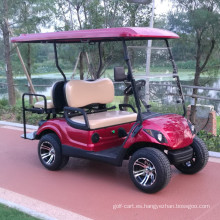
[{"label": "tree trunk at far left edge, left of the cart's roof", "polygon": [[[4,4],[4,9],[5,9],[5,7],[7,6],[7,1],[5,1],[4,3],[5,3]],[[9,104],[11,106],[14,106],[16,103],[16,99],[15,99],[14,80],[13,80],[11,57],[10,57],[10,36],[6,21],[3,21],[2,23],[2,32],[3,32],[3,41],[4,41],[4,58],[6,63],[8,99],[9,99]]]}]

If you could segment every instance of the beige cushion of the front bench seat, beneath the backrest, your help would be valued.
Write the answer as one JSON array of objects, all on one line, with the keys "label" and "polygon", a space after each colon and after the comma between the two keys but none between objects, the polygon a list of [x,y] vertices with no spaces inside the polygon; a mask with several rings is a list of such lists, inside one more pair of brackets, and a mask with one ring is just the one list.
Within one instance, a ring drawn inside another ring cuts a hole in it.
[{"label": "beige cushion of the front bench seat, beneath the backrest", "polygon": [[[108,111],[88,114],[90,129],[98,129],[118,124],[134,122],[137,120],[137,114],[126,111]],[[71,120],[81,124],[85,124],[83,116],[72,117]]]}]

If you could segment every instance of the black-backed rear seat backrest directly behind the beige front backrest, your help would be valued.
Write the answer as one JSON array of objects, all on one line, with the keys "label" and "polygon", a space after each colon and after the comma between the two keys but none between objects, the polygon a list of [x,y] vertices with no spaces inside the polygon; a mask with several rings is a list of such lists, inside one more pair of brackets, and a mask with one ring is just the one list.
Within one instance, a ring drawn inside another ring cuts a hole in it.
[{"label": "black-backed rear seat backrest directly behind the beige front backrest", "polygon": [[57,110],[63,110],[67,106],[65,94],[64,94],[64,85],[65,81],[55,82],[51,90],[51,99],[53,101],[54,107]]}]

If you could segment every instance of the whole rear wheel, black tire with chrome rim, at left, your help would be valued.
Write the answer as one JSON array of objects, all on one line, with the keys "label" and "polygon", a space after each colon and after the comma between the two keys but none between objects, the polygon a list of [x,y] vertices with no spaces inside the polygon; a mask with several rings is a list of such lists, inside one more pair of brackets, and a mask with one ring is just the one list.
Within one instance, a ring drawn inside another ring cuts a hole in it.
[{"label": "whole rear wheel, black tire with chrome rim, at left", "polygon": [[56,134],[42,136],[38,144],[38,157],[48,170],[62,169],[69,161],[68,156],[63,156],[60,140]]}]

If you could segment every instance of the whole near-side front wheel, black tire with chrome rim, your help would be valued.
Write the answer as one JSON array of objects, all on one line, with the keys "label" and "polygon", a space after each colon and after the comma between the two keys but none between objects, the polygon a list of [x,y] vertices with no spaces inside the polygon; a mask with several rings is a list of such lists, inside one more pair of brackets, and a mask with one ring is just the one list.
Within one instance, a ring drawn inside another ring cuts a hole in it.
[{"label": "whole near-side front wheel, black tire with chrome rim", "polygon": [[128,169],[135,186],[145,193],[158,192],[171,178],[169,160],[163,152],[155,148],[137,150],[129,161]]}]

